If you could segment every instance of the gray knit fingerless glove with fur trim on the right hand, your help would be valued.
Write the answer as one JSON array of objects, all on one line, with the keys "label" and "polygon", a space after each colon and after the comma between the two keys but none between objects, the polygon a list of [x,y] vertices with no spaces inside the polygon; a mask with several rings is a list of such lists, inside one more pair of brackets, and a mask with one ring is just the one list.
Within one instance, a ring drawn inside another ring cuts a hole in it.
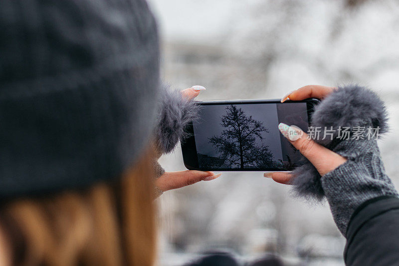
[{"label": "gray knit fingerless glove with fur trim on the right hand", "polygon": [[[298,196],[319,201],[326,197],[344,236],[352,214],[362,203],[379,196],[398,196],[377,145],[377,134],[388,130],[387,117],[377,94],[359,85],[339,87],[315,107],[311,126],[321,128],[321,133],[314,140],[348,161],[321,177],[303,159],[293,171],[292,184]],[[349,135],[343,136],[345,128]],[[332,137],[323,139],[325,129],[333,132]]]}]

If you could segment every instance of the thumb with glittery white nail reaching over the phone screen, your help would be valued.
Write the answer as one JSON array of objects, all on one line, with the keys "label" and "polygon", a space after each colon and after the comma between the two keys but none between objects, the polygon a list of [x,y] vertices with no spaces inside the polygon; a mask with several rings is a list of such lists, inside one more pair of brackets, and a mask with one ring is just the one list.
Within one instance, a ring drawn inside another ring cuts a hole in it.
[{"label": "thumb with glittery white nail reaching over the phone screen", "polygon": [[299,127],[280,123],[278,129],[313,164],[321,176],[347,161],[341,155],[310,139]]}]

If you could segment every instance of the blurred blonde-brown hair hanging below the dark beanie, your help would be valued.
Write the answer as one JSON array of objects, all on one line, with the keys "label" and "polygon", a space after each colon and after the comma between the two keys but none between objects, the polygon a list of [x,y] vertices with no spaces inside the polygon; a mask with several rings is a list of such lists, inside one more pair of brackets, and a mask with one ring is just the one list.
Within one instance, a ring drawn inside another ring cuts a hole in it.
[{"label": "blurred blonde-brown hair hanging below the dark beanie", "polygon": [[151,155],[112,183],[2,204],[0,226],[10,243],[12,264],[152,266]]}]

